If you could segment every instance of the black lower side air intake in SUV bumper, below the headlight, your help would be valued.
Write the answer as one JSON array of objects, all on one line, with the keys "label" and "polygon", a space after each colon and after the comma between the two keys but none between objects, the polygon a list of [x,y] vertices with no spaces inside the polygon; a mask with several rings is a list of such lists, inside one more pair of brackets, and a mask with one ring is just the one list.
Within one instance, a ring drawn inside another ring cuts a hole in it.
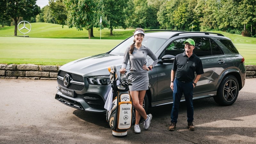
[{"label": "black lower side air intake in SUV bumper, below the headlight", "polygon": [[104,109],[105,103],[98,94],[85,93],[85,94],[78,94],[77,97],[82,98],[92,108]]}]

